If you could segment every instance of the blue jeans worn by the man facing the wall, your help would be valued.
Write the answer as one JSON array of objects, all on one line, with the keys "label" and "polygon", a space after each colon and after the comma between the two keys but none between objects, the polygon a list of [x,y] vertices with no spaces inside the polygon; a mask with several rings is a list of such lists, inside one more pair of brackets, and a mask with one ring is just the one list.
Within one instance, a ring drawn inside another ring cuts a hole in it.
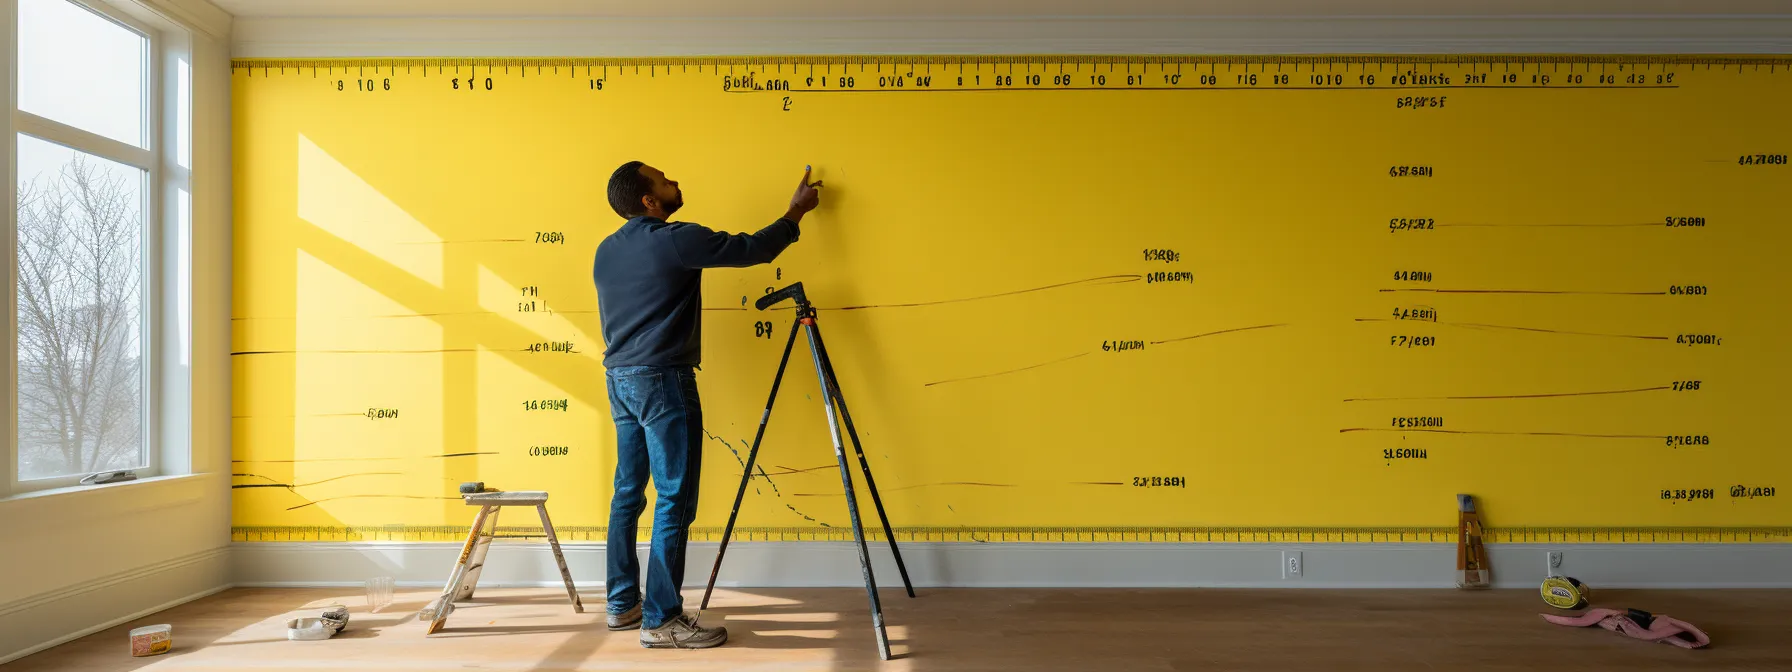
[{"label": "blue jeans worn by the man facing the wall", "polygon": [[697,518],[702,480],[702,403],[690,367],[629,366],[606,373],[609,414],[616,425],[616,484],[609,500],[609,613],[642,600],[636,521],[654,478],[654,536],[647,552],[647,600],[642,627],[659,627],[685,611],[685,541]]}]

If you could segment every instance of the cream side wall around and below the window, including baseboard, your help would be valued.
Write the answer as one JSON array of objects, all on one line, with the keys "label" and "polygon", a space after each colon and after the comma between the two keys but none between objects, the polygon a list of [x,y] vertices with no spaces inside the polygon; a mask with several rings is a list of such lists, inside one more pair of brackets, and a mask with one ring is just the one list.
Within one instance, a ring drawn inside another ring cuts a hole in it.
[{"label": "cream side wall around and below the window, including baseboard", "polygon": [[142,5],[211,30],[192,43],[192,475],[0,498],[0,663],[229,586],[229,16]]}]

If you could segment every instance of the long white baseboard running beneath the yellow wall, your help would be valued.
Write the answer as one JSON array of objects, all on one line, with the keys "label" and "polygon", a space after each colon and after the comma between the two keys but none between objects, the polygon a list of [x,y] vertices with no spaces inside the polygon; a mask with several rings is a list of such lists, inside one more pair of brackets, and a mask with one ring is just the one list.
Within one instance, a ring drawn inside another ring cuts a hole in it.
[{"label": "long white baseboard running beneath the yellow wall", "polygon": [[[441,586],[459,543],[237,543],[238,586],[360,586],[376,575],[400,586]],[[717,543],[692,543],[685,584],[710,579]],[[561,547],[581,590],[604,584],[604,545]],[[873,543],[880,588],[901,586],[887,543]],[[905,543],[916,588],[1453,588],[1455,545],[1439,543]],[[1283,552],[1303,572],[1283,577]],[[1598,588],[1792,588],[1785,543],[1489,545],[1495,588],[1534,590],[1546,552],[1557,570]],[[645,556],[642,543],[640,554]],[[645,561],[645,557],[643,557]],[[480,586],[561,586],[543,543],[496,543]],[[728,588],[864,586],[853,543],[737,541],[717,579]]]}]

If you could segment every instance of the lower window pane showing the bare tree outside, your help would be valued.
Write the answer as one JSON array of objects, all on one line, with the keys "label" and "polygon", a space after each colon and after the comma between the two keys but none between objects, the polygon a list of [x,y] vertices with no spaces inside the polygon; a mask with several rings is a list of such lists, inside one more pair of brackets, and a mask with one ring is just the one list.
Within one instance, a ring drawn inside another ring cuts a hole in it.
[{"label": "lower window pane showing the bare tree outside", "polygon": [[20,168],[18,477],[140,468],[143,172],[30,136]]}]

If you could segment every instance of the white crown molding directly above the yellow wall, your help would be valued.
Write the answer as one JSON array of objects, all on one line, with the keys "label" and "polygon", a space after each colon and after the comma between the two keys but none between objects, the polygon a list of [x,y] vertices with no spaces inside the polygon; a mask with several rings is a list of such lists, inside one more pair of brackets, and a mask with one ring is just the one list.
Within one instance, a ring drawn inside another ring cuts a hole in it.
[{"label": "white crown molding directly above the yellow wall", "polygon": [[233,57],[1792,54],[1792,18],[238,18]]}]

